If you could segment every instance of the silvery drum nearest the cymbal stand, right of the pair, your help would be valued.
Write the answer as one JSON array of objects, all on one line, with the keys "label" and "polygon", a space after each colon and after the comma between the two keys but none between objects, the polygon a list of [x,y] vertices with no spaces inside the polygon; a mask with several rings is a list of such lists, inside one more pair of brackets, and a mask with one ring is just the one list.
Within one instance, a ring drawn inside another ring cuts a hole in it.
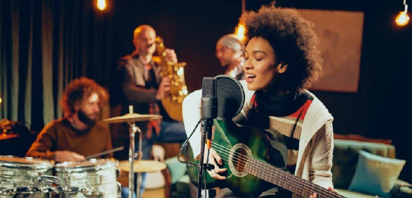
[{"label": "silvery drum nearest the cymbal stand, right of the pair", "polygon": [[70,197],[119,197],[116,181],[116,166],[111,159],[91,159],[79,162],[64,162],[55,165],[56,175],[65,189],[78,187],[79,192]]}]

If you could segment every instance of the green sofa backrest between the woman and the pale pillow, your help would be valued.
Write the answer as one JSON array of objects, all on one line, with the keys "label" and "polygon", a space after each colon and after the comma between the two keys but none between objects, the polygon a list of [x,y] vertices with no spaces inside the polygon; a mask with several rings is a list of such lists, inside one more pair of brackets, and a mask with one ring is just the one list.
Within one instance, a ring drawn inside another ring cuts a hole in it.
[{"label": "green sofa backrest between the woman and the pale pillow", "polygon": [[355,175],[358,163],[358,151],[364,150],[383,157],[395,158],[393,145],[360,142],[353,140],[334,140],[333,184],[336,188],[347,189]]}]

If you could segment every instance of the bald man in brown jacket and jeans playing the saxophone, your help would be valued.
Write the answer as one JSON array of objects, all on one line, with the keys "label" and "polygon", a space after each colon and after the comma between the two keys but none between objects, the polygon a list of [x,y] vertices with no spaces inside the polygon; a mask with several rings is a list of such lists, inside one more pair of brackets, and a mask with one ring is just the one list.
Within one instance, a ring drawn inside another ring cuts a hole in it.
[{"label": "bald man in brown jacket and jeans playing the saxophone", "polygon": [[[122,115],[128,113],[129,105],[133,105],[135,113],[163,116],[161,121],[138,123],[143,132],[141,150],[143,159],[149,159],[152,145],[155,142],[182,143],[186,140],[183,123],[171,119],[160,103],[160,100],[170,91],[171,80],[168,77],[160,77],[161,67],[153,60],[153,54],[156,51],[155,39],[156,31],[153,27],[138,26],[133,32],[135,50],[120,58],[117,68],[117,81],[123,93]],[[167,60],[178,62],[174,50],[166,49],[165,52]],[[128,131],[124,131],[124,134],[128,134]],[[124,142],[127,146],[128,140]],[[135,148],[138,148],[138,145]],[[144,190],[145,177],[146,175],[142,174],[140,193]],[[128,196],[126,189],[122,191],[122,197]]]}]

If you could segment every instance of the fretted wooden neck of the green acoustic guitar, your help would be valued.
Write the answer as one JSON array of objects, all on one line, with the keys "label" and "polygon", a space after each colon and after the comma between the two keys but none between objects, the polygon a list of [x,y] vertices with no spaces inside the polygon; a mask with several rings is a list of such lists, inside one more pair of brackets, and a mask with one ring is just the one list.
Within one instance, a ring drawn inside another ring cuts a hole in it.
[{"label": "fretted wooden neck of the green acoustic guitar", "polygon": [[255,158],[249,159],[244,171],[302,197],[309,197],[314,192],[319,198],[344,197]]}]

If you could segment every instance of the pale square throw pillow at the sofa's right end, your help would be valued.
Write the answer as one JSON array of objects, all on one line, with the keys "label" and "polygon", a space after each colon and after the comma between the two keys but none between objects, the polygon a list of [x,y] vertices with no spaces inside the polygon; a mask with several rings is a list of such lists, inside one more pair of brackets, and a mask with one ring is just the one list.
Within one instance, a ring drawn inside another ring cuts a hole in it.
[{"label": "pale square throw pillow at the sofa's right end", "polygon": [[349,190],[391,197],[390,191],[404,165],[405,160],[359,151],[358,166]]}]

